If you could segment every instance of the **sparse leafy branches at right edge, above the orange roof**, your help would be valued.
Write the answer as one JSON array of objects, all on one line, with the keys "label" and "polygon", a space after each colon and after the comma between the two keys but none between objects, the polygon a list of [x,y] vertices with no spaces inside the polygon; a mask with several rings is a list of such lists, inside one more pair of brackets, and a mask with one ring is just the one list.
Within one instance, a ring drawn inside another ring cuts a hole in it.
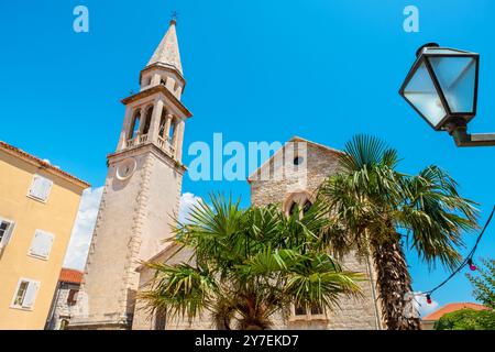
[{"label": "sparse leafy branches at right edge, above the orange roof", "polygon": [[480,275],[466,274],[474,287],[473,296],[486,307],[495,309],[495,260],[483,260],[484,267],[479,267]]}]

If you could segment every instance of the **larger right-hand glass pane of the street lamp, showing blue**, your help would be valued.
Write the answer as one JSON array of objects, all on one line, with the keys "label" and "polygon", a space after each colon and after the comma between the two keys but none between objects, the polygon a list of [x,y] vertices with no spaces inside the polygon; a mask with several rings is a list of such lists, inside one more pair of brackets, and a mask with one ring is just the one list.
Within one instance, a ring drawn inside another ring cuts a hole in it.
[{"label": "larger right-hand glass pane of the street lamp, showing blue", "polygon": [[474,112],[476,61],[470,56],[429,57],[452,112]]}]

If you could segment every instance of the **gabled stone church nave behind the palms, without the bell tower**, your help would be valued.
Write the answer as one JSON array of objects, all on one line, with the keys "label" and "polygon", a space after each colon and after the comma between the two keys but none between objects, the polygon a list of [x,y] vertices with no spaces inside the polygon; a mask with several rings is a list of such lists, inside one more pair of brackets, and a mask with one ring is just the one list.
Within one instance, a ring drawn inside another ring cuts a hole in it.
[{"label": "gabled stone church nave behind the palms, without the bell tower", "polygon": [[[251,204],[263,207],[276,204],[284,212],[289,212],[293,205],[302,208],[311,204],[320,184],[338,170],[339,151],[295,136],[283,148],[255,170],[248,179],[251,186]],[[295,165],[297,164],[297,165]],[[190,251],[172,245],[158,253],[151,261],[177,264],[190,260]],[[354,254],[342,258],[345,270],[363,273],[366,280],[360,283],[363,298],[345,298],[339,301],[340,308],[333,311],[306,311],[292,308],[288,319],[276,317],[274,329],[382,329],[378,300],[376,297],[375,272],[366,257]],[[146,289],[153,279],[153,272],[141,266],[140,289]],[[157,323],[161,322],[161,323]],[[212,323],[205,315],[193,321],[169,319],[163,324],[163,317],[152,316],[138,304],[133,329],[212,329]]]}]

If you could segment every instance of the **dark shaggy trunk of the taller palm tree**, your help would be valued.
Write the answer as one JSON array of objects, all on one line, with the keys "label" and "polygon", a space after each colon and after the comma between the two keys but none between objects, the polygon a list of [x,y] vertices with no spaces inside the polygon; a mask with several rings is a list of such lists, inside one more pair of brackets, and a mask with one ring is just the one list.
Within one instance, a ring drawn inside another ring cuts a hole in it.
[{"label": "dark shaggy trunk of the taller palm tree", "polygon": [[373,244],[373,261],[377,272],[377,287],[382,299],[382,315],[388,330],[419,330],[419,318],[410,315],[411,278],[403,248],[397,240]]}]

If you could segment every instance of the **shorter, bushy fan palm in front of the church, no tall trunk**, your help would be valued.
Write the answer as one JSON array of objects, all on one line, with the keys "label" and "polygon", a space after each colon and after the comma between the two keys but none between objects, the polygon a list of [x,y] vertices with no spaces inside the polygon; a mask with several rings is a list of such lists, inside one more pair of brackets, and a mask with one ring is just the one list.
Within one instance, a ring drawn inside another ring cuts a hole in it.
[{"label": "shorter, bushy fan palm in front of the church, no tall trunk", "polygon": [[140,297],[151,310],[189,318],[210,312],[217,329],[267,329],[290,305],[332,309],[359,296],[358,273],[345,272],[324,250],[322,211],[285,216],[276,206],[241,209],[212,196],[175,227],[176,245],[194,260],[148,263],[155,279]]}]

